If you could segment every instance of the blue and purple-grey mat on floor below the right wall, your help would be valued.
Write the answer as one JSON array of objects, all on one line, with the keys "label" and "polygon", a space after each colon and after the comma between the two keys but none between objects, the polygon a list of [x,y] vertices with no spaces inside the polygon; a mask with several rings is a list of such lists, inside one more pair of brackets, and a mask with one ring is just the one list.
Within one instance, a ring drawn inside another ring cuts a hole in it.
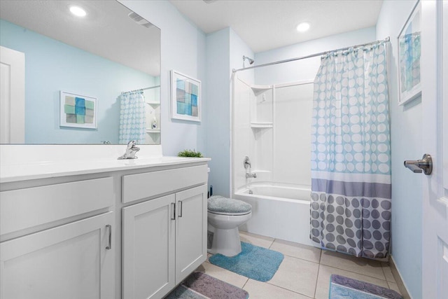
[{"label": "blue and purple-grey mat on floor below the right wall", "polygon": [[401,299],[401,295],[389,288],[332,274],[330,299]]}]

